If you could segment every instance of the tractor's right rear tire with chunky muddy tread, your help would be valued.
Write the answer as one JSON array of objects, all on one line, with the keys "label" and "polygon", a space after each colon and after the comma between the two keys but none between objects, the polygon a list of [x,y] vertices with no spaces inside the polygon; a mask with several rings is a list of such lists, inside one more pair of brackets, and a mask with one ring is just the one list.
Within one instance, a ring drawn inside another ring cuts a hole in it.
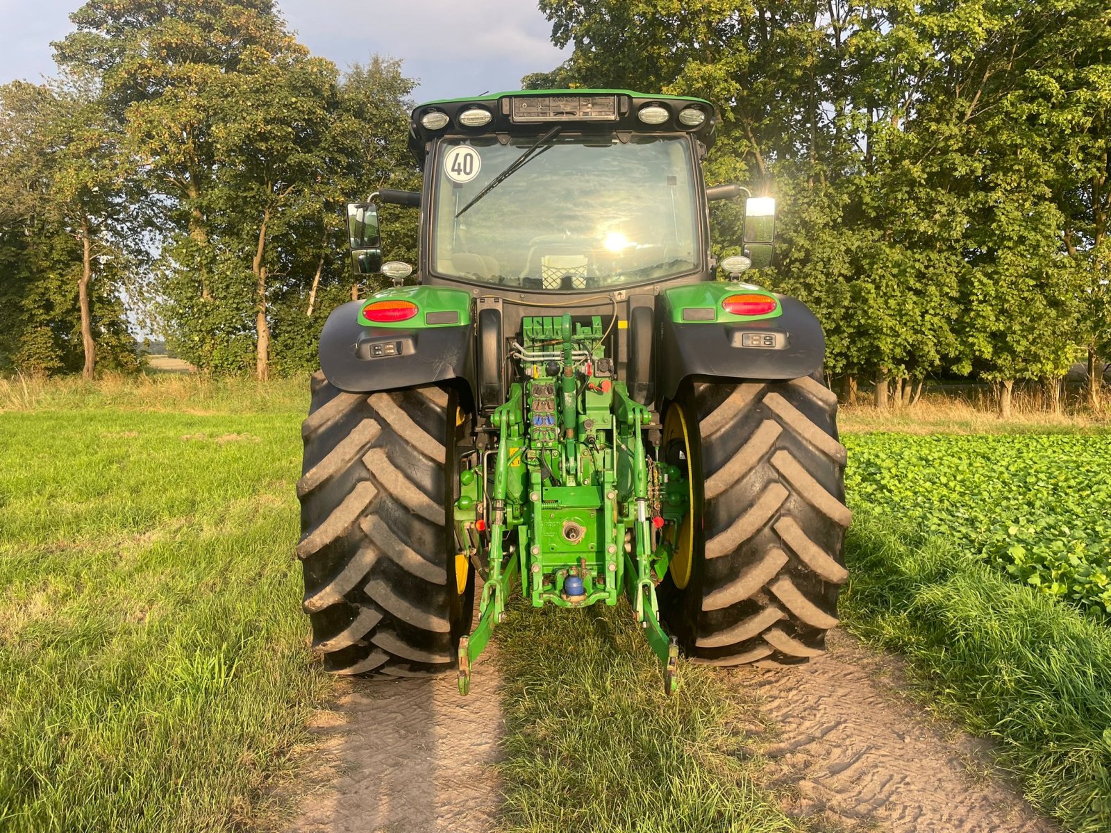
[{"label": "tractor's right rear tire with chunky muddy tread", "polygon": [[848,578],[851,520],[837,397],[809,377],[688,382],[665,411],[665,441],[679,423],[691,552],[673,560],[680,568],[661,585],[672,633],[695,662],[714,665],[794,664],[822,653]]}]

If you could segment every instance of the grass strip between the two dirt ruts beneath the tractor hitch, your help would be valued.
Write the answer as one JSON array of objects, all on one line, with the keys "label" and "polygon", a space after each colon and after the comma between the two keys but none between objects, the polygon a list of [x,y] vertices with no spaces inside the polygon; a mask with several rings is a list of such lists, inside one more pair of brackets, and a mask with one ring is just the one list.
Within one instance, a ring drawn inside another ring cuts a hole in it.
[{"label": "grass strip between the two dirt ruts beneath the tractor hitch", "polygon": [[660,664],[615,609],[514,605],[498,629],[504,676],[503,829],[513,833],[800,830],[758,785],[739,720],[758,719],[704,666]]}]

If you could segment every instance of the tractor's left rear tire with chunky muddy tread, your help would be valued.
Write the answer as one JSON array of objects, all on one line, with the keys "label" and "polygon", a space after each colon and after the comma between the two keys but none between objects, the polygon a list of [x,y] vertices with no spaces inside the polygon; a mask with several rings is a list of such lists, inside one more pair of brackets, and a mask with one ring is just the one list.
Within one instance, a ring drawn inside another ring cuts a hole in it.
[{"label": "tractor's left rear tire with chunky muddy tread", "polygon": [[451,516],[468,423],[453,389],[347,393],[313,375],[297,553],[327,670],[397,678],[454,668],[474,599]]}]

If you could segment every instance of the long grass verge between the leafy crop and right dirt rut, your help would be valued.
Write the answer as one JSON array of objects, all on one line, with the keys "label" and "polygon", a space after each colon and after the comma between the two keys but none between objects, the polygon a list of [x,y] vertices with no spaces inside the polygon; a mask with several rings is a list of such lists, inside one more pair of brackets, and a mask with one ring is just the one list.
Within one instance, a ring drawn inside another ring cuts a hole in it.
[{"label": "long grass verge between the leafy crop and right dirt rut", "polygon": [[940,536],[857,510],[847,626],[905,654],[937,711],[998,743],[1034,806],[1111,830],[1111,632]]}]

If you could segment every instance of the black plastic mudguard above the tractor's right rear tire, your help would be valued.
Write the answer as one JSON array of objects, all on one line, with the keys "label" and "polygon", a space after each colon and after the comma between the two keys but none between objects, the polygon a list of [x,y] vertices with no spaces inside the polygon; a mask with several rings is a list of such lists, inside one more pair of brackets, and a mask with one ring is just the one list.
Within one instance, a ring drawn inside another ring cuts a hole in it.
[{"label": "black plastic mudguard above the tractor's right rear tire", "polygon": [[[783,310],[779,318],[744,323],[677,323],[661,304],[659,394],[673,399],[687,377],[798,379],[820,371],[825,357],[822,325],[801,301],[775,297]],[[777,350],[741,347],[741,333],[753,331],[784,333],[787,345]]]}]

